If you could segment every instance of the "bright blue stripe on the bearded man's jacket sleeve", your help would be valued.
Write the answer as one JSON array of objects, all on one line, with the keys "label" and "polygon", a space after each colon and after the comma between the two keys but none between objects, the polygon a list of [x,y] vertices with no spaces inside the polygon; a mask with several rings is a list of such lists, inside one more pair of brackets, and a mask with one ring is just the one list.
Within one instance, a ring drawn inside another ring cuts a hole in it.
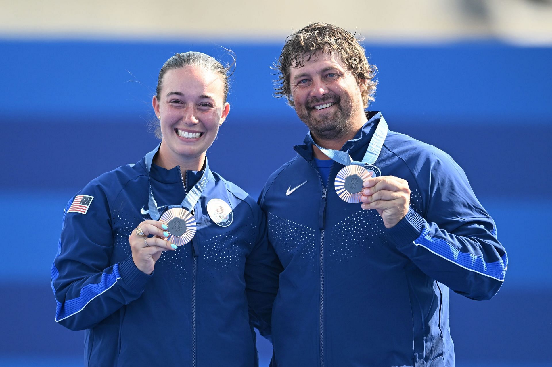
[{"label": "bright blue stripe on the bearded man's jacket sleeve", "polygon": [[447,241],[439,238],[432,238],[428,235],[428,233],[429,230],[424,228],[420,237],[414,241],[414,244],[416,246],[422,246],[445,260],[463,267],[464,269],[500,280],[500,282],[504,281],[506,271],[504,260],[506,260],[507,264],[506,254],[502,256],[502,260],[485,262],[484,258],[481,256],[475,256],[468,252],[461,252],[454,246],[450,245]]}]

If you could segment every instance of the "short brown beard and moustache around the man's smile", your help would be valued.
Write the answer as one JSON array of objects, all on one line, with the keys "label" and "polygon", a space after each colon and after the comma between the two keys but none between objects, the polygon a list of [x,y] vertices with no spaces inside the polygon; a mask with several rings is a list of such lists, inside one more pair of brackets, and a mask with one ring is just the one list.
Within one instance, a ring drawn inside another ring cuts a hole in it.
[{"label": "short brown beard and moustache around the man's smile", "polygon": [[[312,106],[327,102],[333,102],[333,106],[328,107],[333,108],[333,113],[314,116],[317,112]],[[306,105],[300,108],[295,105],[295,112],[300,120],[310,129],[314,137],[323,140],[339,140],[351,134],[353,131],[352,110],[351,100],[341,99],[338,96],[311,98]]]}]

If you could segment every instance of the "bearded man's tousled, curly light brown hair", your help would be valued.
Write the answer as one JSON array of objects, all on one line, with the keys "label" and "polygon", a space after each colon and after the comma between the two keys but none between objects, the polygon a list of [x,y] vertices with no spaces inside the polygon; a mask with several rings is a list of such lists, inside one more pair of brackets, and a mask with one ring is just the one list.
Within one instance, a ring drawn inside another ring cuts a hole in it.
[{"label": "bearded man's tousled, curly light brown hair", "polygon": [[317,52],[336,53],[341,61],[347,66],[357,83],[367,82],[367,88],[362,92],[362,103],[364,108],[368,107],[369,101],[374,101],[377,80],[374,79],[378,70],[375,65],[370,65],[364,47],[360,46],[355,36],[343,28],[330,23],[315,22],[291,34],[286,40],[282,53],[273,69],[279,73],[278,79],[274,80],[274,95],[278,98],[288,99],[290,106],[295,106],[291,96],[289,74],[291,67],[301,67],[305,61],[316,57]]}]

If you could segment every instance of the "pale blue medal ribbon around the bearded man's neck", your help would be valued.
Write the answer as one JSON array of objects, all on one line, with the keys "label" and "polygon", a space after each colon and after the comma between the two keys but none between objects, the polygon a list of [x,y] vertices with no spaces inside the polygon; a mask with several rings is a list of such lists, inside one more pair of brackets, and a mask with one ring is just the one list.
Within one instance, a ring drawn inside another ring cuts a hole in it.
[{"label": "pale blue medal ribbon around the bearded man's neck", "polygon": [[370,140],[370,144],[366,149],[366,153],[364,153],[362,161],[354,160],[353,158],[351,158],[351,155],[349,155],[349,153],[343,152],[343,150],[326,149],[320,147],[312,139],[310,131],[308,137],[311,144],[316,145],[316,147],[320,149],[322,153],[326,154],[328,158],[336,161],[337,163],[344,166],[354,164],[364,167],[365,165],[374,164],[376,159],[378,159],[378,156],[381,152],[381,147],[383,147],[383,142],[385,141],[385,137],[387,136],[388,131],[389,128],[387,126],[387,122],[385,122],[383,116],[381,116],[378,127],[376,128],[376,131],[374,131],[374,136]]}]

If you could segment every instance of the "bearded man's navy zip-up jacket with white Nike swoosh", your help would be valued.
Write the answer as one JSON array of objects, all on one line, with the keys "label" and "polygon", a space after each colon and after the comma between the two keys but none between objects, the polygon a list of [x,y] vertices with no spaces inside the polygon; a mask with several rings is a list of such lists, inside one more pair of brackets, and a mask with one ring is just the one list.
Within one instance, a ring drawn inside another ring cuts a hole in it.
[{"label": "bearded man's navy zip-up jacket with white Nike swoosh", "polygon": [[[369,112],[342,150],[362,160],[380,117]],[[441,150],[389,131],[374,165],[408,181],[411,202],[386,229],[378,212],[338,197],[343,165],[333,163],[323,182],[308,140],[295,150],[259,198],[284,267],[272,315],[275,363],[454,366],[448,289],[490,299],[507,268],[464,171]]]}]

